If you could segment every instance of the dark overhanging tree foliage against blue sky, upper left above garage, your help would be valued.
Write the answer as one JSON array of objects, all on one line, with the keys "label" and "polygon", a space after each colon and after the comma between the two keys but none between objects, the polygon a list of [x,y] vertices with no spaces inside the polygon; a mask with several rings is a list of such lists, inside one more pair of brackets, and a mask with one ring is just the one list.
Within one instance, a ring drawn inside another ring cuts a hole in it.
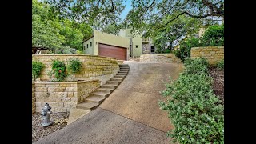
[{"label": "dark overhanging tree foliage against blue sky, upper left above garage", "polygon": [[62,18],[71,18],[78,22],[87,22],[93,25],[99,21],[100,25],[120,22],[119,15],[125,6],[123,0],[48,0],[52,12]]}]

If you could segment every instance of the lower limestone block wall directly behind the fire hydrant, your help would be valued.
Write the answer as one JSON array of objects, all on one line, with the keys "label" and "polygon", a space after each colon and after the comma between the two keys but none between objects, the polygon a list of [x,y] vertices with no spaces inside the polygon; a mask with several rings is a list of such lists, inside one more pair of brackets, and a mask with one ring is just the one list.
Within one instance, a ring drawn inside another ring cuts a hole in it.
[{"label": "lower limestone block wall directly behind the fire hydrant", "polygon": [[35,111],[41,112],[46,103],[51,111],[70,112],[100,86],[98,80],[78,82],[34,82]]}]

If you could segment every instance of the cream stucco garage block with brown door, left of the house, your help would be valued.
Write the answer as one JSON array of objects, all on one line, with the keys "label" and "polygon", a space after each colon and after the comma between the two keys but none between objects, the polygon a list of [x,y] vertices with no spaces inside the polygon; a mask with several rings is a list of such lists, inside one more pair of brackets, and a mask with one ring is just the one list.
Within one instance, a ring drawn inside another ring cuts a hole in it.
[{"label": "cream stucco garage block with brown door, left of the house", "polygon": [[106,34],[94,30],[93,36],[82,42],[83,52],[90,55],[128,60],[130,40],[114,34]]}]

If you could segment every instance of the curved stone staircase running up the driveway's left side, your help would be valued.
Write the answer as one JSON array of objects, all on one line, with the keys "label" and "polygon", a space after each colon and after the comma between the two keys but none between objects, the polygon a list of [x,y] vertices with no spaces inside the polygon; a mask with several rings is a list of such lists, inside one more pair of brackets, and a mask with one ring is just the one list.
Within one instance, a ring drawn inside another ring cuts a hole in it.
[{"label": "curved stone staircase running up the driveway's left side", "polygon": [[126,75],[128,74],[130,67],[127,64],[119,65],[119,72],[110,78],[105,85],[102,85],[94,92],[92,92],[88,97],[84,99],[84,102],[79,103],[76,108],[82,110],[94,110],[97,108],[113,91],[118,87]]}]

